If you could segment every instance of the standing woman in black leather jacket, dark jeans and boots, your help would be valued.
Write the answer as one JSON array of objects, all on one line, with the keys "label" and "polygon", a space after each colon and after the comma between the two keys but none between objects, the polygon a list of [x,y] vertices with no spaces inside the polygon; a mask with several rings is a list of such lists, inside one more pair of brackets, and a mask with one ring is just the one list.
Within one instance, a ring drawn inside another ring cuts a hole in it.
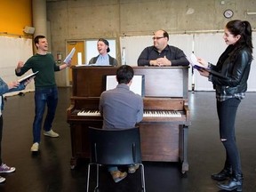
[{"label": "standing woman in black leather jacket, dark jeans and boots", "polygon": [[215,89],[220,122],[220,140],[226,150],[224,168],[218,173],[213,173],[212,179],[228,180],[218,183],[218,187],[221,189],[242,191],[243,173],[236,146],[235,122],[237,108],[245,97],[252,63],[251,24],[246,20],[229,21],[224,29],[223,38],[228,47],[220,55],[216,66],[198,58],[198,61],[205,67],[224,76],[215,76],[209,70],[199,71],[201,76],[208,77]]}]

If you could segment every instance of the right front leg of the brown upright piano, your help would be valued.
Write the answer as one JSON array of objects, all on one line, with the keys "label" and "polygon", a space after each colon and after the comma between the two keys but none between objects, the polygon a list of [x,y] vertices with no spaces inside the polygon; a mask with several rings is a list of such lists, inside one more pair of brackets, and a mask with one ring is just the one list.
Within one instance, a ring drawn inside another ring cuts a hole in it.
[{"label": "right front leg of the brown upright piano", "polygon": [[181,172],[188,172],[188,125],[180,125],[180,161],[182,164]]}]

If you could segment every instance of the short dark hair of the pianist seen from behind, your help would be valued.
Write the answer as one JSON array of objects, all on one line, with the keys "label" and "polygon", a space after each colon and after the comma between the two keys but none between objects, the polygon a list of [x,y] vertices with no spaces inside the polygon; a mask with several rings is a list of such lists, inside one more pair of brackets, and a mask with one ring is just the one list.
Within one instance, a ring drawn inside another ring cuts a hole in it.
[{"label": "short dark hair of the pianist seen from behind", "polygon": [[128,65],[123,65],[116,70],[116,80],[118,84],[129,84],[133,75],[133,68]]}]

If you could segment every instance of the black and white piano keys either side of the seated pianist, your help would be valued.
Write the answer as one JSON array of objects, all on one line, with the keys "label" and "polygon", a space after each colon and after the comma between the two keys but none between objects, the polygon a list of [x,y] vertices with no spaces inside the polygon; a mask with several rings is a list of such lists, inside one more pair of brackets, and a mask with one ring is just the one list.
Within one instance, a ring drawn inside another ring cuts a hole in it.
[{"label": "black and white piano keys either side of the seated pianist", "polygon": [[[77,116],[100,116],[99,110],[81,110],[77,113]],[[179,111],[174,110],[146,110],[143,113],[143,117],[181,117]]]}]

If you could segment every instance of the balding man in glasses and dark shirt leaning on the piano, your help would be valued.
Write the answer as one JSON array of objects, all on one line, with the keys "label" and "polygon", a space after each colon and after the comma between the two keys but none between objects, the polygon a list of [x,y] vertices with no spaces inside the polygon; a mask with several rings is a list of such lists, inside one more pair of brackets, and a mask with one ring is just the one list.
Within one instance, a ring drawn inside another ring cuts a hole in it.
[{"label": "balding man in glasses and dark shirt leaning on the piano", "polygon": [[146,47],[137,60],[138,66],[188,66],[185,53],[168,44],[169,35],[161,29],[152,37],[154,45]]}]

